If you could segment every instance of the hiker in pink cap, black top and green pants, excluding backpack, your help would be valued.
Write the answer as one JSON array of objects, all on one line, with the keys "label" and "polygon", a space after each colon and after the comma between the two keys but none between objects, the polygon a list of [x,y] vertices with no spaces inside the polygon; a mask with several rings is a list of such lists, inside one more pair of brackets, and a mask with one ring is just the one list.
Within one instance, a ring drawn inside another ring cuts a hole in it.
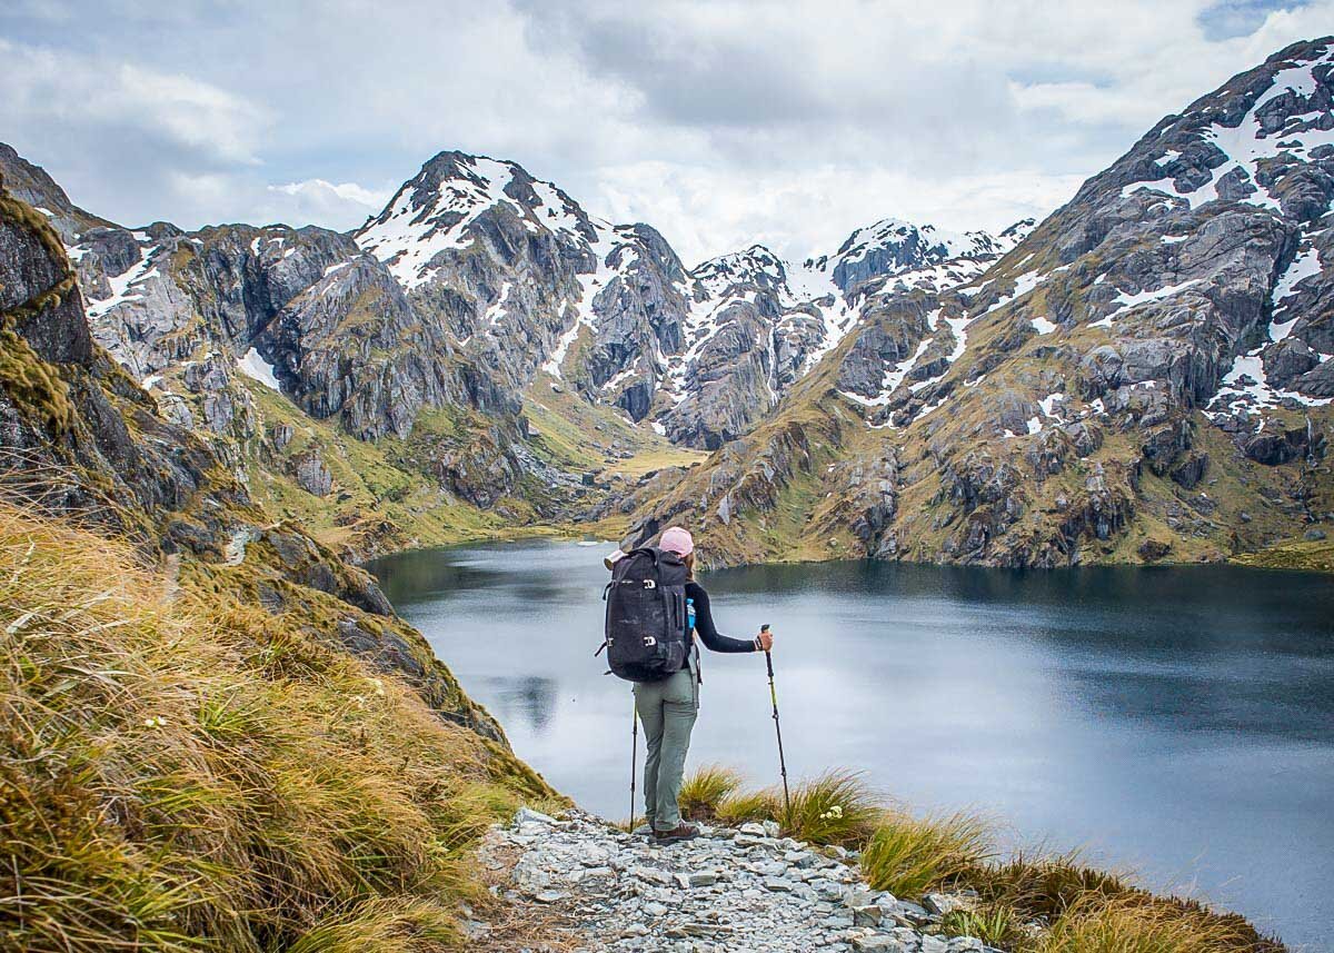
[{"label": "hiker in pink cap, black top and green pants, excluding backpack", "polygon": [[[644,814],[651,837],[667,842],[686,841],[699,834],[699,828],[682,820],[676,804],[690,733],[699,713],[699,646],[695,645],[695,633],[708,649],[730,653],[768,651],[774,646],[774,637],[767,629],[754,639],[730,638],[718,631],[708,607],[708,593],[695,582],[695,542],[690,533],[672,526],[663,531],[658,549],[675,554],[684,563],[686,605],[694,610],[694,625],[686,625],[687,643],[679,669],[666,678],[635,679],[635,710],[648,742],[648,755],[644,759]],[[619,551],[612,555],[619,555]]]}]

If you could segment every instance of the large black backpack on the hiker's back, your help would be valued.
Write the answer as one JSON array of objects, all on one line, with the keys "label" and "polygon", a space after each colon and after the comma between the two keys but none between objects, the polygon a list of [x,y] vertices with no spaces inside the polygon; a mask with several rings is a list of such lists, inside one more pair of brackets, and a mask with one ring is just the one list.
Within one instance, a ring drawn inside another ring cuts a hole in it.
[{"label": "large black backpack on the hiker's back", "polygon": [[631,550],[611,567],[602,645],[612,674],[656,682],[680,671],[690,645],[686,577],[679,555],[654,546]]}]

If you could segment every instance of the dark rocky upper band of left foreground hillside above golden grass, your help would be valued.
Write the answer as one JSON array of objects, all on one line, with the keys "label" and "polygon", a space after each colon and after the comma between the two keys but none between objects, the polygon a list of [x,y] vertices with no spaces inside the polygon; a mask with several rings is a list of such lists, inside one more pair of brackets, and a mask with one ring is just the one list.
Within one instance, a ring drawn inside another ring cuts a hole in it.
[{"label": "dark rocky upper band of left foreground hillside above golden grass", "polygon": [[[189,426],[159,415],[89,334],[45,215],[0,191],[0,490],[129,538],[145,558],[402,677],[450,721],[503,745],[375,581],[273,523]],[[241,311],[236,311],[239,316]]]}]

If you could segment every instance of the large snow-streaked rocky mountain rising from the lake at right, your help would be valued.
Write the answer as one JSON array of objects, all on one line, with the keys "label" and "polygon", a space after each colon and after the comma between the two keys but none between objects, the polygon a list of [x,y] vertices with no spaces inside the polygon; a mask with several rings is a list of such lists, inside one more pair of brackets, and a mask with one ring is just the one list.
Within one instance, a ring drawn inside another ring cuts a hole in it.
[{"label": "large snow-streaked rocky mountain rising from the lake at right", "polygon": [[1322,39],[1233,77],[952,287],[880,282],[751,434],[607,513],[634,514],[639,535],[690,522],[715,565],[1321,545],[1331,64]]}]

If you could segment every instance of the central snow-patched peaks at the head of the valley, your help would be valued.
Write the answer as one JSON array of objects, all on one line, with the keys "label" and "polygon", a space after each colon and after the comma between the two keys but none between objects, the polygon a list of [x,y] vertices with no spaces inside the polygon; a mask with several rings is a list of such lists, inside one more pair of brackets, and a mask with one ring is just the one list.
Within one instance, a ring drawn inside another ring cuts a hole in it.
[{"label": "central snow-patched peaks at the head of the valley", "polygon": [[716,448],[855,323],[856,282],[1013,244],[898,224],[818,263],[754,246],[687,272],[650,226],[591,216],[512,162],[442,152],[355,239],[427,326],[511,391],[550,378],[675,443]]}]

